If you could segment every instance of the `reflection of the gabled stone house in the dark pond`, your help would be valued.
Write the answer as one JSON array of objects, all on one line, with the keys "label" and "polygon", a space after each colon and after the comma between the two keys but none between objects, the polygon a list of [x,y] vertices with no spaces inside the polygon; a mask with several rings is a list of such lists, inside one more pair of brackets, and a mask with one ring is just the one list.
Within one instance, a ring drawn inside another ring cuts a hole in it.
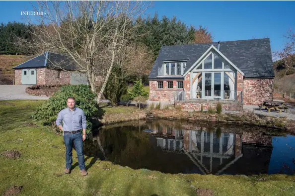
[{"label": "reflection of the gabled stone house in the dark pond", "polygon": [[[271,146],[271,136],[247,132],[217,134],[216,131],[173,129],[159,125],[152,128],[158,147],[165,151],[185,153],[204,174],[267,173],[272,148],[263,146]],[[248,144],[261,146],[253,148],[253,145]],[[263,153],[257,160],[255,152],[257,154],[259,150]],[[255,160],[251,156],[256,157]]]}]

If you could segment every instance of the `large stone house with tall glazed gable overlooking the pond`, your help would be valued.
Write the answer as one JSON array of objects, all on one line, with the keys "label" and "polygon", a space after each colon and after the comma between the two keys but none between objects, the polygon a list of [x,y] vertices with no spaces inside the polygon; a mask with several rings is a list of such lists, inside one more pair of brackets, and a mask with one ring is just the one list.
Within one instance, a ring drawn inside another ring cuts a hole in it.
[{"label": "large stone house with tall glazed gable overlooking the pond", "polygon": [[149,100],[224,110],[272,99],[269,38],[163,46],[149,75]]}]

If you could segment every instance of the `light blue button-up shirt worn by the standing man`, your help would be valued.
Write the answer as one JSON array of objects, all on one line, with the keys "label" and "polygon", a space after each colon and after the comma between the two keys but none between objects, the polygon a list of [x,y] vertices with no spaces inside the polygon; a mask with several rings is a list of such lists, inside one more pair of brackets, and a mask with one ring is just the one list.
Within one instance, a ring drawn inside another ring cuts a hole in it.
[{"label": "light blue button-up shirt worn by the standing man", "polygon": [[61,110],[56,119],[56,125],[61,125],[62,122],[64,131],[77,131],[87,127],[84,111],[78,107],[75,107],[73,111],[69,107]]}]

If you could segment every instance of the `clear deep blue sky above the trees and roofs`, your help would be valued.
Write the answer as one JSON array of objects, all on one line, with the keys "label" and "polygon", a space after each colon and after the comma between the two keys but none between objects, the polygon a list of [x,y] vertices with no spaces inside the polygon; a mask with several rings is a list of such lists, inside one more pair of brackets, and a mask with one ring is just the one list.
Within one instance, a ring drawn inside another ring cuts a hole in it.
[{"label": "clear deep blue sky above the trees and roofs", "polygon": [[[34,1],[0,1],[0,22],[22,21]],[[295,1],[154,1],[147,13],[174,15],[187,25],[207,26],[214,41],[269,37],[272,51],[283,48],[288,29],[295,30]],[[31,16],[36,17],[36,16]]]}]

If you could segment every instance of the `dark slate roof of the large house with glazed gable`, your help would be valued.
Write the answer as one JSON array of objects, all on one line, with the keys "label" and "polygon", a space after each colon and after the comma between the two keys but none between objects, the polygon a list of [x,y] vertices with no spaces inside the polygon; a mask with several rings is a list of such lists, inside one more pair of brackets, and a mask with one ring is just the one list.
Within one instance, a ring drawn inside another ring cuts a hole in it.
[{"label": "dark slate roof of the large house with glazed gable", "polygon": [[[218,42],[163,46],[148,79],[159,79],[158,68],[163,61],[187,60],[185,73],[212,45],[218,48]],[[245,74],[245,78],[275,77],[269,38],[224,41],[220,43],[220,52]]]}]

